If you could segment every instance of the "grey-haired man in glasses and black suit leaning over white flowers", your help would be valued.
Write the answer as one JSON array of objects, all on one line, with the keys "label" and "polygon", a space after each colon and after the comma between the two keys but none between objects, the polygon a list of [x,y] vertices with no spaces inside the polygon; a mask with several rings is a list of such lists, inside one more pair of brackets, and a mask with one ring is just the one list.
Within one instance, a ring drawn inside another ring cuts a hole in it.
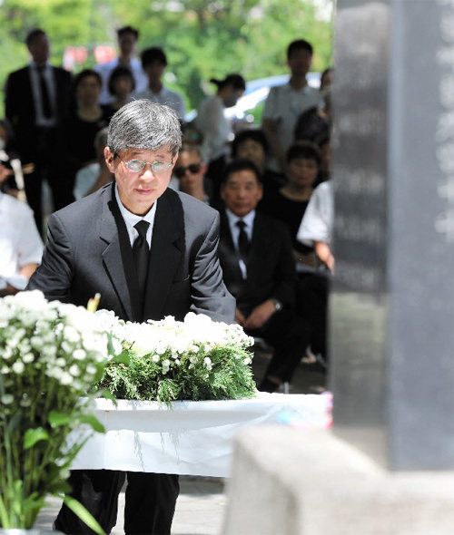
[{"label": "grey-haired man in glasses and black suit leaning over white flowers", "polygon": [[[104,150],[115,182],[55,212],[48,223],[41,266],[29,283],[45,297],[100,307],[125,320],[144,321],[190,310],[232,322],[234,299],[217,257],[219,213],[167,188],[181,147],[173,110],[134,101],[114,114]],[[125,474],[74,471],[74,497],[109,533]],[[127,472],[124,530],[170,533],[178,476]],[[92,533],[67,508],[55,528]]]}]

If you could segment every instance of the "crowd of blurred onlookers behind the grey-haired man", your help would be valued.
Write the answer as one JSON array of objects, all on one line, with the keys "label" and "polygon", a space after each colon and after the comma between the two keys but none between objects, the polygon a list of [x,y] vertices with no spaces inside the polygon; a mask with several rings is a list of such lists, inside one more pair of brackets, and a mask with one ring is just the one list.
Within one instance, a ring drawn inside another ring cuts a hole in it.
[{"label": "crowd of blurred onlookers behind the grey-haired man", "polygon": [[[28,35],[32,61],[11,73],[6,83],[6,119],[0,122],[2,191],[26,196],[44,237],[37,190],[42,181],[51,186],[54,209],[89,195],[113,180],[104,161],[112,115],[139,98],[173,107],[182,121],[184,143],[170,187],[222,213],[225,282],[238,299],[237,321],[273,346],[261,384],[263,390],[273,391],[290,380],[301,358],[309,363],[314,354],[327,358],[329,277],[321,275],[321,267],[325,272],[334,269],[332,193],[327,182],[332,69],[322,73],[320,91],[309,87],[311,44],[292,42],[287,49],[290,81],[271,89],[262,128],[250,125],[235,133],[224,111],[245,90],[241,74],[213,78],[215,92],[201,102],[196,120],[185,124],[183,96],[163,84],[163,49],[145,48],[139,60],[138,31],[125,26],[117,35],[118,57],[84,69],[72,80],[48,62],[47,34],[34,30]],[[18,101],[25,95],[33,104],[26,117]],[[36,176],[39,180],[32,183],[29,177]],[[232,227],[239,218],[246,222],[242,230]],[[322,221],[330,229],[325,234]],[[247,253],[239,241],[244,235]]]}]

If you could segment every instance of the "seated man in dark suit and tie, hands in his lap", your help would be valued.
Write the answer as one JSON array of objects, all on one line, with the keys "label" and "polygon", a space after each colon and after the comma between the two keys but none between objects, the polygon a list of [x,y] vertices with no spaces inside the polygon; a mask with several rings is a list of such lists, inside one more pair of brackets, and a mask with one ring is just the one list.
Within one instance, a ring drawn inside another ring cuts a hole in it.
[{"label": "seated man in dark suit and tie, hands in his lap", "polygon": [[262,199],[259,170],[234,160],[222,179],[219,258],[224,282],[236,297],[236,321],[274,346],[259,390],[274,392],[290,381],[309,345],[310,331],[293,311],[296,271],[288,229],[255,208]]}]

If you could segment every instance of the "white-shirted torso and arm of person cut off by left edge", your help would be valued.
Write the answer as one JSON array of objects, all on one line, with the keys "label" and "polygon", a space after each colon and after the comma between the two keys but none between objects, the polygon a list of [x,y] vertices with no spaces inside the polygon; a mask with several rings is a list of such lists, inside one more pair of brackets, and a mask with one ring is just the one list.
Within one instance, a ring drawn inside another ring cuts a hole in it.
[{"label": "white-shirted torso and arm of person cut off by left edge", "polygon": [[23,290],[42,256],[43,241],[32,210],[0,192],[0,297]]}]

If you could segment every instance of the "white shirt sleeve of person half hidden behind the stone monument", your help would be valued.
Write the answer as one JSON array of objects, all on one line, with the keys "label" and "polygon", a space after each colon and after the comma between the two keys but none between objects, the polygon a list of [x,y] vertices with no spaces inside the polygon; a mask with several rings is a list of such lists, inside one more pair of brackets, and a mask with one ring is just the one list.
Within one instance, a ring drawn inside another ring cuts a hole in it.
[{"label": "white shirt sleeve of person half hidden behind the stone monument", "polygon": [[302,217],[298,240],[308,246],[312,246],[314,241],[331,245],[333,221],[334,199],[331,182],[321,182],[313,191]]}]

